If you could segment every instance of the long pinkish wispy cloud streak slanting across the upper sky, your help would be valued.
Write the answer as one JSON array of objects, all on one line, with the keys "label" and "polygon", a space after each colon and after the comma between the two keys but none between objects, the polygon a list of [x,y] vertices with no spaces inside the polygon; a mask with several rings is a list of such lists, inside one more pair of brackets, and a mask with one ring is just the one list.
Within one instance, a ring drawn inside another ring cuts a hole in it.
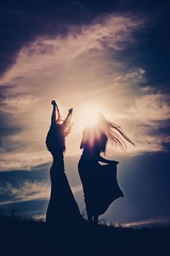
[{"label": "long pinkish wispy cloud streak slanting across the upper sky", "polygon": [[[132,30],[139,24],[139,21],[133,22],[129,17],[110,16],[92,25],[71,27],[66,37],[58,35],[54,39],[38,38],[29,46],[22,47],[13,67],[1,77],[1,84],[19,82],[26,77],[29,79],[30,74],[32,77],[37,77],[37,73],[42,71],[45,71],[46,75],[50,71],[53,73],[54,70],[60,74],[60,67],[67,68],[69,64],[73,64],[73,59],[89,51],[98,51],[99,54],[100,51],[107,52],[107,48],[119,50],[122,48],[122,42],[132,40]],[[81,64],[83,62],[81,61]],[[59,67],[54,67],[54,64]],[[32,84],[29,87],[35,89]],[[27,90],[27,87],[22,88],[24,89]]]}]

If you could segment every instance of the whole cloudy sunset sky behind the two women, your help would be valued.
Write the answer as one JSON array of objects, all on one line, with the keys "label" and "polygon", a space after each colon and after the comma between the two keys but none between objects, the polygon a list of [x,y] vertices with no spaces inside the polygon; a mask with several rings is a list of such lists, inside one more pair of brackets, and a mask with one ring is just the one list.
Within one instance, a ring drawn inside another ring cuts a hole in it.
[{"label": "whole cloudy sunset sky behind the two women", "polygon": [[55,99],[63,118],[73,108],[65,165],[81,212],[81,135],[102,112],[135,147],[108,147],[125,197],[101,218],[170,221],[169,9],[169,1],[1,1],[1,211],[45,216]]}]

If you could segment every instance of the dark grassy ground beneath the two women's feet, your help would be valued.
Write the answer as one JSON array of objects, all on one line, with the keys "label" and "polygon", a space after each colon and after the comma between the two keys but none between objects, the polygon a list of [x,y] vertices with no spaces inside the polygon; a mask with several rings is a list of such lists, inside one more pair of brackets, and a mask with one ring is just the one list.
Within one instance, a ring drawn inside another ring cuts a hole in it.
[{"label": "dark grassy ground beneath the two women's feet", "polygon": [[[66,223],[65,223],[66,224]],[[0,216],[0,255],[170,255],[170,227],[115,228],[104,225],[49,228],[42,221]]]}]

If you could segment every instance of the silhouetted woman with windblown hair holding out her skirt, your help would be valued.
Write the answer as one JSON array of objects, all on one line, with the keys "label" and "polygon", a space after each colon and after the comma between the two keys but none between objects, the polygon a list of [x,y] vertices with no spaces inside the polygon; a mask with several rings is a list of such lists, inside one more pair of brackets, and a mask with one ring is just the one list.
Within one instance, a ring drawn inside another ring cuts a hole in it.
[{"label": "silhouetted woman with windblown hair holding out her skirt", "polygon": [[[122,138],[133,144],[117,124],[107,121],[102,114],[99,114],[96,125],[84,129],[80,146],[84,150],[79,161],[79,175],[84,188],[89,223],[98,223],[99,215],[115,199],[124,197],[117,184],[118,162],[109,161],[100,155],[105,153],[107,142],[125,150]],[[99,162],[107,164],[101,165]]]}]

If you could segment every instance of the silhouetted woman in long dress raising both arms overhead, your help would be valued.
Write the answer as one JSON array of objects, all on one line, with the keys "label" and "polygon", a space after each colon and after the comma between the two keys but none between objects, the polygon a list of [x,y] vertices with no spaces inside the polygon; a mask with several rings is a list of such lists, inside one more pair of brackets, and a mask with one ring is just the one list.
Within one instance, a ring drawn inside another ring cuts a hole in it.
[{"label": "silhouetted woman in long dress raising both arms overhead", "polygon": [[63,162],[63,153],[66,150],[65,137],[71,129],[73,108],[69,109],[68,116],[62,121],[57,104],[55,101],[52,101],[52,104],[53,114],[46,138],[47,148],[53,155],[53,164],[50,168],[50,202],[46,221],[50,224],[57,223],[62,226],[64,223],[73,223],[80,216],[79,207],[68,184]]}]

